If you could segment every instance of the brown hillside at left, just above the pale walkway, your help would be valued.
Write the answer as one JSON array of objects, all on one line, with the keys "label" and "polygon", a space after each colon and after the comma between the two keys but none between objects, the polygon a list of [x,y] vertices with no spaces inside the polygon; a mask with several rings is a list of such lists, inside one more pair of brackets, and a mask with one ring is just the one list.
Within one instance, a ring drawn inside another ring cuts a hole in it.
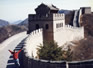
[{"label": "brown hillside at left, just above the pale walkway", "polygon": [[9,25],[5,27],[0,27],[0,43],[10,36],[17,34],[27,29],[24,26]]}]

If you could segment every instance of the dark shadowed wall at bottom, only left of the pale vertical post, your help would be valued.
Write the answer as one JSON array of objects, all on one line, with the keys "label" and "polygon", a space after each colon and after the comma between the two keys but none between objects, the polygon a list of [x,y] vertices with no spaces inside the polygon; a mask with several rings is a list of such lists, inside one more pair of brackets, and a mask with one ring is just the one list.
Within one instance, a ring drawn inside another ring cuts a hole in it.
[{"label": "dark shadowed wall at bottom, only left of the pale vertical post", "polygon": [[24,68],[67,68],[64,61],[33,59],[24,56]]}]

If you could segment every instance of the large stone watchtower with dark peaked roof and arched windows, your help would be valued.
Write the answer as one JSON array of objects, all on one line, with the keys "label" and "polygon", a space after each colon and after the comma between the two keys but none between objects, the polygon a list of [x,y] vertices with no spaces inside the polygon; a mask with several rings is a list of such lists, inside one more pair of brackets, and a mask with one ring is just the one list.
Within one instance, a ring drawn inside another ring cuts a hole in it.
[{"label": "large stone watchtower with dark peaked roof and arched windows", "polygon": [[54,33],[65,25],[65,15],[59,14],[58,10],[54,5],[40,4],[35,9],[36,14],[29,14],[28,34],[43,28],[43,40],[54,41]]}]

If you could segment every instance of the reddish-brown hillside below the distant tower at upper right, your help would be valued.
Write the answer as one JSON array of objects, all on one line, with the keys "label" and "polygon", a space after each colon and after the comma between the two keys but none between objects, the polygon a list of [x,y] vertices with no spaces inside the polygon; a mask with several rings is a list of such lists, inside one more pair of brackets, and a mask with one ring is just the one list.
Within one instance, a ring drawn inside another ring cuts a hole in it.
[{"label": "reddish-brown hillside below the distant tower at upper right", "polygon": [[81,26],[84,26],[85,37],[93,36],[93,13],[81,16]]}]

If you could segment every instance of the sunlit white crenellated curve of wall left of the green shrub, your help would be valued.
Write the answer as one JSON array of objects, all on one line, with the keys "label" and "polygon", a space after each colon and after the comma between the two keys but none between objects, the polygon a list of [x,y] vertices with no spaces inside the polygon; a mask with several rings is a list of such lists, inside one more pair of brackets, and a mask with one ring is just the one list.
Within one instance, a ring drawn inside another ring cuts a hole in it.
[{"label": "sunlit white crenellated curve of wall left of the green shrub", "polygon": [[31,32],[24,43],[24,51],[27,52],[27,55],[35,58],[38,45],[43,44],[42,29]]}]

